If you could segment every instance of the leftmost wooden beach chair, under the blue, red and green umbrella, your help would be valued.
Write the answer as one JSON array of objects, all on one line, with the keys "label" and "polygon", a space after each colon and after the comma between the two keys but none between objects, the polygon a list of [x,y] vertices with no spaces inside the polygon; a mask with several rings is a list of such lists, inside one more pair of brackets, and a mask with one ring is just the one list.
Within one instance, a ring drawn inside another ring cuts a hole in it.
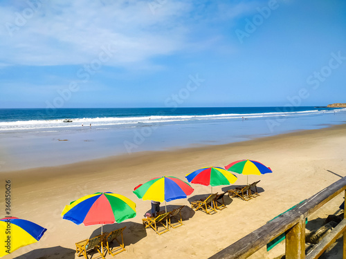
[{"label": "leftmost wooden beach chair, under the blue, red and green umbrella", "polygon": [[86,239],[80,242],[75,243],[75,252],[78,254],[78,256],[84,256],[85,259],[88,259],[87,253],[90,251],[97,250],[98,253],[100,253],[100,256],[98,258],[103,258],[103,242],[104,242],[104,236],[106,236],[108,233],[103,233],[102,235],[95,236],[94,238]]}]

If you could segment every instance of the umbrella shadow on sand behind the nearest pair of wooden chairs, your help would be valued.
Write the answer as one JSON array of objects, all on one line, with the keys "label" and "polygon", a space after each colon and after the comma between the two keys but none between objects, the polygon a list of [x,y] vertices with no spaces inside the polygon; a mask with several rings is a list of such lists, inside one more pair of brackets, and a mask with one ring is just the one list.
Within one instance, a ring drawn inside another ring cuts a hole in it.
[{"label": "umbrella shadow on sand behind the nearest pair of wooden chairs", "polygon": [[[102,229],[103,229],[103,232],[110,233],[111,231],[114,231],[116,229],[121,229],[122,227],[126,227],[126,229],[122,231],[124,236],[125,247],[128,246],[129,244],[136,244],[136,242],[138,242],[139,240],[147,236],[147,232],[145,231],[143,224],[139,224],[136,222],[121,222],[121,223],[114,223],[114,224],[106,224],[106,225],[103,225]],[[98,229],[95,229],[93,233],[91,233],[91,236],[89,238],[98,236],[100,235],[100,233],[101,233],[101,227],[99,227]]]}]

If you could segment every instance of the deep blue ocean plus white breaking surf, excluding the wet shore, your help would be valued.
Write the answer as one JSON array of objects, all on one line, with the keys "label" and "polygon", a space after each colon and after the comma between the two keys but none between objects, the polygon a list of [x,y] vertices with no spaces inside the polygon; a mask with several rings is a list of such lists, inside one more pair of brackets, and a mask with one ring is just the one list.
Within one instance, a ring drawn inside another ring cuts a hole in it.
[{"label": "deep blue ocean plus white breaking surf, excluding the wet shore", "polygon": [[[293,110],[293,111],[291,111]],[[0,109],[0,133],[6,131],[73,130],[94,127],[134,127],[136,124],[179,124],[208,120],[271,119],[342,112],[316,107],[218,107],[218,108],[16,108]],[[72,122],[64,123],[64,119]]]}]

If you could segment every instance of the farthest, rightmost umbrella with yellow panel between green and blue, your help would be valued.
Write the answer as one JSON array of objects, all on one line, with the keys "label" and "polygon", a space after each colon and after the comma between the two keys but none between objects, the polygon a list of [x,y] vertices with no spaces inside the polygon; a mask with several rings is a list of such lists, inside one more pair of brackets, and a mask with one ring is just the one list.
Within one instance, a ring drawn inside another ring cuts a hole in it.
[{"label": "farthest, rightmost umbrella with yellow panel between green and blue", "polygon": [[225,169],[243,175],[263,175],[264,173],[273,173],[269,167],[266,167],[264,164],[255,160],[238,160],[225,166]]}]

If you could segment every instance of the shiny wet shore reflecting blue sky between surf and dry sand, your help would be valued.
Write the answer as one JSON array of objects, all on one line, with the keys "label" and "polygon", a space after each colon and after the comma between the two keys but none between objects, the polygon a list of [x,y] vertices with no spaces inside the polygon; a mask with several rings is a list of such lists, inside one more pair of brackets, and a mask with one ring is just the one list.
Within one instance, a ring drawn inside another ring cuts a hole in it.
[{"label": "shiny wet shore reflecting blue sky between surf and dry sand", "polygon": [[73,128],[52,126],[22,130],[14,127],[8,132],[0,126],[0,172],[73,164],[114,155],[126,157],[145,151],[218,146],[345,123],[344,110],[335,114],[331,111],[311,113],[290,116],[282,113],[270,116],[270,113],[266,117],[254,113],[248,119],[239,115],[233,119],[201,116],[200,120],[190,117],[178,122],[161,122],[158,118],[157,122],[147,119],[122,126],[93,124],[90,127],[87,123],[88,126],[78,124]]}]

